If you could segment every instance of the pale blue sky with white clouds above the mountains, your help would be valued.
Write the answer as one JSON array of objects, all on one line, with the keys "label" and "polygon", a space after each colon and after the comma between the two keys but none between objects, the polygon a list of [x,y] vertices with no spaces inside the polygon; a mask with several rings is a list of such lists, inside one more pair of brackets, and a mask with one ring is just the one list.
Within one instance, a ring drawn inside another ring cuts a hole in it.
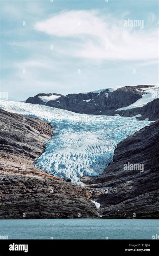
[{"label": "pale blue sky with white clouds above the mountains", "polygon": [[158,84],[156,0],[1,0],[0,14],[9,100]]}]

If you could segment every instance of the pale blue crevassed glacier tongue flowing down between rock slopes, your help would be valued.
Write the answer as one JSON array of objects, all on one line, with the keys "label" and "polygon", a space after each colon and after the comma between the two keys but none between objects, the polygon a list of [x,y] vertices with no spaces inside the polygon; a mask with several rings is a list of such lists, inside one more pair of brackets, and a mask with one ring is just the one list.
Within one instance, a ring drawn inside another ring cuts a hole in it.
[{"label": "pale blue crevassed glacier tongue flowing down between rock slopes", "polygon": [[0,100],[0,107],[40,118],[53,126],[54,135],[36,165],[53,175],[80,184],[85,175],[99,175],[113,161],[121,140],[149,125],[128,117],[76,114],[67,110]]}]

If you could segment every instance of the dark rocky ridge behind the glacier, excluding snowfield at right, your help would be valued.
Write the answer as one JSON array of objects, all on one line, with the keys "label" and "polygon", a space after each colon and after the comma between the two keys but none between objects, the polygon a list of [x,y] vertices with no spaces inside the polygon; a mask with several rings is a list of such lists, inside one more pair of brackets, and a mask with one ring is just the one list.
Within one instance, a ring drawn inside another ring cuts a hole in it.
[{"label": "dark rocky ridge behind the glacier, excluding snowfield at right", "polygon": [[45,104],[46,106],[66,109],[81,114],[114,115],[116,114],[116,109],[133,104],[135,101],[142,98],[144,92],[141,88],[144,87],[153,86],[125,86],[112,92],[109,89],[105,89],[100,93],[96,91],[74,93],[60,96],[58,99],[49,100],[47,102],[39,99],[39,96],[48,96],[48,94],[38,94],[35,97],[28,98],[26,103]]}]

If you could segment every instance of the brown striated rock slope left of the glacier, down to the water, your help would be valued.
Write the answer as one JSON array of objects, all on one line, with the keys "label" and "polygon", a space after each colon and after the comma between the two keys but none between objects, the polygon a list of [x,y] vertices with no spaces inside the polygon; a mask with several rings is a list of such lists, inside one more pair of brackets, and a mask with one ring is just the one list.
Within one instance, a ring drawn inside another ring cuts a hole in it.
[{"label": "brown striated rock slope left of the glacier, down to the water", "polygon": [[0,109],[0,219],[99,218],[91,188],[34,166],[51,136],[48,123]]}]

